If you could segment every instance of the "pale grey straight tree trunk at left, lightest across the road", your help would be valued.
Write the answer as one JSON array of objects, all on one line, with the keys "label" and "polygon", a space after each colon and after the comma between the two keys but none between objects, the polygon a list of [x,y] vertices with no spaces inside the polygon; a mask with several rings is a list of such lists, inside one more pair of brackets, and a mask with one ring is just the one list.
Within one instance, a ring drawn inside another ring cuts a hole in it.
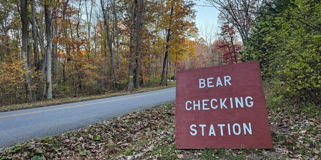
[{"label": "pale grey straight tree trunk at left, lightest across the road", "polygon": [[51,84],[51,17],[49,13],[49,4],[48,1],[45,2],[45,23],[46,23],[46,40],[47,40],[47,49],[46,49],[46,58],[47,58],[47,99],[52,99],[52,84]]}]

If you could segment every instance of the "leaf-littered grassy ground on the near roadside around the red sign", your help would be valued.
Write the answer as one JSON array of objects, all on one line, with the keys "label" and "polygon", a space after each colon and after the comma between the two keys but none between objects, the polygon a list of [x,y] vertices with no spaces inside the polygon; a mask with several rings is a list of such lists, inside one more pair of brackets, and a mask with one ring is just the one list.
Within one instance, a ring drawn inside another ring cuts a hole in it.
[{"label": "leaf-littered grassy ground on the near roadside around the red sign", "polygon": [[272,149],[176,149],[175,103],[118,116],[84,129],[0,151],[2,159],[321,159],[317,106],[284,106],[266,93]]}]

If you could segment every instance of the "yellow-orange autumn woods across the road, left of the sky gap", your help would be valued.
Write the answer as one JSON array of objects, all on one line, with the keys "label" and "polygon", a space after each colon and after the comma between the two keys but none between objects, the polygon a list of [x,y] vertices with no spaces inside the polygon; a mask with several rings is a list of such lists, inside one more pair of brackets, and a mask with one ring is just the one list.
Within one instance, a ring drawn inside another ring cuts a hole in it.
[{"label": "yellow-orange autumn woods across the road, left of the sky gap", "polygon": [[1,1],[1,104],[168,85],[177,62],[196,55],[193,5]]}]

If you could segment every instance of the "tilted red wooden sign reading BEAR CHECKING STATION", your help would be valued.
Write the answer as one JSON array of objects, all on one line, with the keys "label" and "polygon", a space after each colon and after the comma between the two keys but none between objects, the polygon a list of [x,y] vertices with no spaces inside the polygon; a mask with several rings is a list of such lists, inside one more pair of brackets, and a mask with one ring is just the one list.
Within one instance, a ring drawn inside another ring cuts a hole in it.
[{"label": "tilted red wooden sign reading BEAR CHECKING STATION", "polygon": [[258,61],[177,72],[176,148],[272,148]]}]

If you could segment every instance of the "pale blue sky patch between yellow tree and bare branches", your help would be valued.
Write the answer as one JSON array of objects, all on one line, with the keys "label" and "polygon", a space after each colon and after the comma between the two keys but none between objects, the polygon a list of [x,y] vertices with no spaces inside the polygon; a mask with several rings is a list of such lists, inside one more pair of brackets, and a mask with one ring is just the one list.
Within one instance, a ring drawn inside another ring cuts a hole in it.
[{"label": "pale blue sky patch between yellow tree and bare branches", "polygon": [[[205,1],[206,2],[206,1]],[[195,0],[197,5],[206,5],[204,4],[204,0]],[[196,12],[196,27],[199,28],[200,25],[204,25],[205,21],[208,21],[210,24],[217,23],[217,16],[219,11],[215,7],[203,7],[203,6],[194,6]]]}]

